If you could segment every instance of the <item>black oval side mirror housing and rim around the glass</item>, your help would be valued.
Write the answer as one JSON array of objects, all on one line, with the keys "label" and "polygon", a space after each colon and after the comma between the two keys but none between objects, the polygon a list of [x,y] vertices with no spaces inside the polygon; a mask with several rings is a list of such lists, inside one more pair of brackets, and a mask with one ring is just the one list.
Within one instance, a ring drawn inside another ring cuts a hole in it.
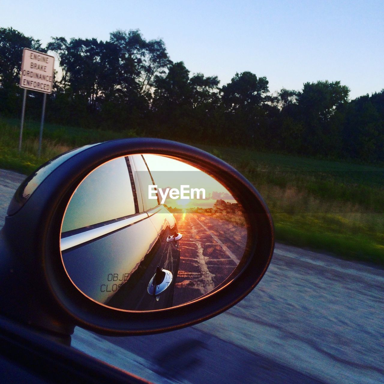
[{"label": "black oval side mirror housing and rim around the glass", "polygon": [[[74,190],[92,170],[116,157],[158,154],[194,164],[228,186],[247,212],[247,258],[237,275],[201,299],[158,311],[122,311],[82,295],[60,256],[60,231]],[[68,152],[29,196],[15,196],[0,232],[0,311],[51,333],[74,326],[109,335],[149,334],[189,326],[235,305],[255,288],[274,248],[271,215],[260,194],[237,170],[195,147],[160,139],[123,139]],[[59,164],[60,163],[60,164]],[[18,192],[20,194],[20,191]]]}]

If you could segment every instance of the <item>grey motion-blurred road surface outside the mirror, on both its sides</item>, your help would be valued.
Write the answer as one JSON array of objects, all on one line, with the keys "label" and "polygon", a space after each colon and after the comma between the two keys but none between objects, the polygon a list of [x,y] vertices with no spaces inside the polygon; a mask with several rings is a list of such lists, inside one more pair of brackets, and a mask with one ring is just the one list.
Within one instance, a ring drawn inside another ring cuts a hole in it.
[{"label": "grey motion-blurred road surface outside the mirror, on both its sides", "polygon": [[[22,179],[0,170],[0,220]],[[213,319],[128,338],[76,328],[72,345],[159,383],[383,383],[383,298],[383,270],[277,244],[257,288]]]}]

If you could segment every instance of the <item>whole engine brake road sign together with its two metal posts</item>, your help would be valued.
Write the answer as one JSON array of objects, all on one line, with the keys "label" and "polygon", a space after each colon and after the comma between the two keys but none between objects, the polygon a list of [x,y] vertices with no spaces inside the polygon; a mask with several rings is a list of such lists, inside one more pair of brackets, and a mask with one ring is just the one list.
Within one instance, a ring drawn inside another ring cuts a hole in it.
[{"label": "whole engine brake road sign together with its two metal posts", "polygon": [[43,126],[45,116],[45,104],[47,93],[52,93],[53,86],[53,65],[55,58],[46,53],[34,51],[28,48],[23,49],[22,70],[20,71],[20,88],[24,88],[22,121],[20,126],[19,152],[22,148],[22,136],[25,114],[26,90],[43,92],[43,111],[41,113],[40,135],[38,157],[41,154],[41,141],[43,140]]}]

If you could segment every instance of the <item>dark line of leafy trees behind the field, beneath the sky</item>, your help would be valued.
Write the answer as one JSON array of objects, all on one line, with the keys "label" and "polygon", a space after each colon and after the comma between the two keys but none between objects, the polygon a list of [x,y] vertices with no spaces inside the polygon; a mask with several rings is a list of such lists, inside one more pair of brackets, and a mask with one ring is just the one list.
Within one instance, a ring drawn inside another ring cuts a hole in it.
[{"label": "dark line of leafy trees behind the field, beneath the sky", "polygon": [[[108,41],[39,40],[0,28],[0,114],[20,116],[23,48],[56,56],[47,119],[71,126],[130,129],[138,136],[366,162],[384,161],[384,89],[349,99],[340,81],[271,93],[265,76],[191,74],[164,41],[117,30]],[[29,92],[27,116],[40,118],[42,94]]]}]

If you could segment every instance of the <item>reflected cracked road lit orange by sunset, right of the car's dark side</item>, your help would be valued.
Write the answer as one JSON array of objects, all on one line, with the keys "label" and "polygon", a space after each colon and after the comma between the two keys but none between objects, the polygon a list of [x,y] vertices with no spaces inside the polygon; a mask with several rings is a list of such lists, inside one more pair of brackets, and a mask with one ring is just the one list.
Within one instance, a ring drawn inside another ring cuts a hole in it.
[{"label": "reflected cracked road lit orange by sunset, right of the car's dark side", "polygon": [[183,235],[173,302],[179,305],[210,292],[232,273],[245,246],[237,245],[235,237],[246,240],[246,233],[245,228],[201,214],[184,211],[174,216]]}]

